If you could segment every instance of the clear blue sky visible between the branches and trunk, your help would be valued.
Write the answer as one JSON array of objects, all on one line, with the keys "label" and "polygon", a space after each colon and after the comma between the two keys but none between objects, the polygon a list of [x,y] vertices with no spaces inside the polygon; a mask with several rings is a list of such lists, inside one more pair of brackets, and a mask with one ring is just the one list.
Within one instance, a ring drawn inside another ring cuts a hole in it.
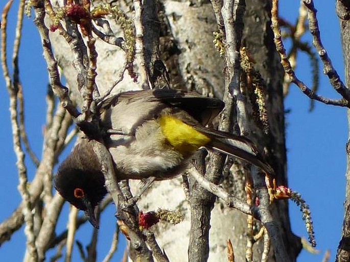
[{"label": "clear blue sky visible between the branches and trunk", "polygon": [[[4,1],[5,2],[5,1]],[[3,8],[4,2],[0,4]],[[18,1],[14,1],[14,7]],[[280,1],[281,14],[283,17],[294,21],[296,18],[299,1]],[[331,57],[335,68],[341,78],[343,77],[343,62],[339,40],[339,24],[335,14],[334,1],[316,1],[318,19],[321,29],[321,38],[326,50]],[[15,8],[10,12],[9,29],[13,31],[15,23]],[[11,45],[13,32],[8,36],[9,53],[11,57]],[[305,36],[304,39],[310,39]],[[25,109],[26,126],[29,140],[33,150],[38,156],[41,154],[42,127],[45,121],[44,96],[48,77],[46,65],[42,58],[42,49],[39,36],[36,32],[32,18],[25,18],[23,39],[20,48],[20,77],[24,86],[26,99]],[[0,69],[2,75],[2,69]],[[305,55],[300,55],[296,73],[300,80],[311,84],[310,62]],[[322,74],[320,79],[319,93],[328,97],[339,97],[333,91],[327,78]],[[295,86],[291,86],[290,94],[286,99],[287,123],[287,149],[288,149],[288,180],[289,186],[301,193],[302,197],[309,203],[315,227],[317,248],[321,250],[319,255],[311,255],[302,251],[298,261],[320,261],[326,249],[331,250],[331,260],[334,260],[336,248],[340,239],[343,201],[345,192],[345,143],[347,139],[347,121],[345,109],[325,106],[315,103],[315,109],[311,113],[309,99]],[[12,135],[9,118],[9,101],[5,88],[5,82],[0,77],[0,137],[2,138],[2,153],[0,154],[0,166],[3,169],[0,176],[0,221],[7,218],[20,201],[17,192],[17,170],[15,166],[15,155],[12,146]],[[65,153],[69,151],[69,148]],[[34,166],[29,159],[28,176],[31,179],[35,172]],[[67,205],[65,205],[67,211]],[[109,221],[113,215],[114,206],[108,207],[108,213],[104,214],[102,220]],[[292,229],[295,234],[306,237],[306,230],[299,209],[290,203],[290,217]],[[106,225],[104,221],[102,225]],[[60,227],[64,228],[63,220]],[[84,225],[79,230],[79,239],[89,239],[91,227]],[[109,243],[113,228],[101,227],[100,235],[104,236],[105,243]],[[84,242],[85,243],[85,242]],[[88,243],[88,241],[86,242]],[[108,245],[98,247],[98,261],[102,260],[108,252]],[[4,260],[11,258],[19,261],[25,250],[25,238],[22,230],[17,231],[10,242],[4,243],[0,248],[0,256]],[[50,252],[52,255],[53,253]],[[121,257],[121,254],[116,255]],[[117,259],[120,260],[120,259]]]}]

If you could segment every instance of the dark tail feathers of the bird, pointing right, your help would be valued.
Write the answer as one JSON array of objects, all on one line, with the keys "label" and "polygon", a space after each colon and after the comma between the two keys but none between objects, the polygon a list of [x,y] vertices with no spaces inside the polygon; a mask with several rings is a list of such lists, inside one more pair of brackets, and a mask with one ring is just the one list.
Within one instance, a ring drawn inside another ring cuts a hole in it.
[{"label": "dark tail feathers of the bird, pointing right", "polygon": [[274,174],[272,167],[263,160],[262,156],[248,140],[236,140],[229,138],[214,138],[206,146],[221,153],[236,156],[236,158],[247,161],[260,167],[268,174]]}]

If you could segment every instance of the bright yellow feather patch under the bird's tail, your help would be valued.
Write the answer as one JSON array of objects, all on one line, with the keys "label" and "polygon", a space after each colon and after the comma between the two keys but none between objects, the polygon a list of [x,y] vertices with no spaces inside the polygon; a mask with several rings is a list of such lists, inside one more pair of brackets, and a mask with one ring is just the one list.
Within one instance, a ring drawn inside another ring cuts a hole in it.
[{"label": "bright yellow feather patch under the bird's tail", "polygon": [[196,151],[199,147],[211,141],[210,137],[176,117],[164,115],[158,118],[158,122],[169,143],[182,154]]}]

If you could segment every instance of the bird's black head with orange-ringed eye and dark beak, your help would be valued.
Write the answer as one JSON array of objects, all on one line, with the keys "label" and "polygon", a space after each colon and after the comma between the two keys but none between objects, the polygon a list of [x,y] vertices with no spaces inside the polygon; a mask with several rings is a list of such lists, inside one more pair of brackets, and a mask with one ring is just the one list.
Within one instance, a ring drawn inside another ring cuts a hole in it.
[{"label": "bird's black head with orange-ringed eye and dark beak", "polygon": [[100,163],[89,141],[84,139],[73,149],[58,168],[54,182],[59,194],[84,211],[90,223],[99,228],[95,209],[107,190]]}]

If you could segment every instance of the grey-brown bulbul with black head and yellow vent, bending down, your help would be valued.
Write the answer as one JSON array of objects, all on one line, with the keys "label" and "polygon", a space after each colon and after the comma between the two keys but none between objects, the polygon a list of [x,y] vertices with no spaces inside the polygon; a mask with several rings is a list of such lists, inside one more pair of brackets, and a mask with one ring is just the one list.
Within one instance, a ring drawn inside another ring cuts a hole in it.
[{"label": "grey-brown bulbul with black head and yellow vent, bending down", "polygon": [[[200,147],[236,156],[272,174],[248,139],[206,127],[223,108],[219,99],[180,90],[128,91],[106,99],[99,106],[100,126],[115,133],[106,135],[104,141],[116,177],[172,178]],[[100,163],[87,139],[63,161],[54,182],[61,196],[98,227],[94,211],[107,191]]]}]

